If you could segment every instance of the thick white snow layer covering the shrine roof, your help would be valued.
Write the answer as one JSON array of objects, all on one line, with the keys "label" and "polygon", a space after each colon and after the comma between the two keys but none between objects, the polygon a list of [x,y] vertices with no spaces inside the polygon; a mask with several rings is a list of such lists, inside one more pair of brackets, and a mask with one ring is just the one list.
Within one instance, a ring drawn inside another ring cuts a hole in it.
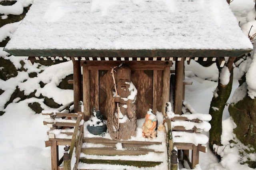
[{"label": "thick white snow layer covering the shrine roof", "polygon": [[5,49],[250,49],[226,0],[34,0]]}]

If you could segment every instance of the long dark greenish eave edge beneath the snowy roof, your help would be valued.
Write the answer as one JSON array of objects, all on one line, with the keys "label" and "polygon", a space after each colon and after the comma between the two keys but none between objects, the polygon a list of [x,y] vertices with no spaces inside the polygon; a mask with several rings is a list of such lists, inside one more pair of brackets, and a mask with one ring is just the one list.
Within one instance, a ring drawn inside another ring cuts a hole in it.
[{"label": "long dark greenish eave edge beneath the snowy roof", "polygon": [[252,49],[4,49],[30,57],[240,57]]}]

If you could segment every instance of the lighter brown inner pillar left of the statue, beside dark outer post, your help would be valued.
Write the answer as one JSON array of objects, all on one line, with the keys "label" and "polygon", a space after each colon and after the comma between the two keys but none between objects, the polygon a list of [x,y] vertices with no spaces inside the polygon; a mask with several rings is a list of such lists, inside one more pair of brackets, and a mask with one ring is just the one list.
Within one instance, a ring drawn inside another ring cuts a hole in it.
[{"label": "lighter brown inner pillar left of the statue, beside dark outer post", "polygon": [[84,92],[84,121],[88,121],[91,115],[90,109],[90,71],[83,67],[83,92]]}]

